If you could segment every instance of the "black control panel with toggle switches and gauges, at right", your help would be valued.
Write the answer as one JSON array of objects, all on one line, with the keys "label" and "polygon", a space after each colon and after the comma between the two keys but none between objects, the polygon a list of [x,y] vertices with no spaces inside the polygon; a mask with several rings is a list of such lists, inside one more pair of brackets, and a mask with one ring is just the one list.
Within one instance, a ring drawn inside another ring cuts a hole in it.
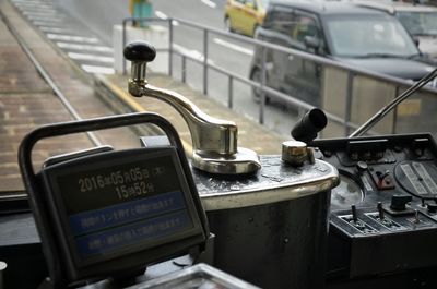
[{"label": "black control panel with toggle switches and gauges, at right", "polygon": [[339,169],[329,276],[365,277],[437,265],[437,146],[428,134],[319,140]]}]

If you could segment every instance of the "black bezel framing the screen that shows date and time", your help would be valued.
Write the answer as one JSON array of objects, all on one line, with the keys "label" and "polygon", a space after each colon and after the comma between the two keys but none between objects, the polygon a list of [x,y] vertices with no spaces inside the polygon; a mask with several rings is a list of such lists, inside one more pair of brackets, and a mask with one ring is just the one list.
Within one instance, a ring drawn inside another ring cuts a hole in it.
[{"label": "black bezel framing the screen that shows date and time", "polygon": [[[114,252],[106,252],[102,255],[95,255],[91,257],[82,257],[78,246],[75,245],[75,237],[69,222],[69,214],[66,209],[64,200],[62,197],[61,190],[62,183],[59,183],[59,179],[64,176],[78,174],[79,172],[93,172],[98,171],[101,168],[107,168],[107,166],[128,166],[129,164],[137,164],[139,161],[147,161],[151,159],[157,159],[163,157],[169,157],[173,162],[173,168],[176,171],[177,181],[179,183],[180,192],[185,200],[185,206],[187,209],[188,217],[191,221],[190,228],[181,231],[174,232],[169,236],[157,238],[157,240],[143,240],[135,245],[129,245],[128,248],[116,250]],[[199,215],[196,210],[193,203],[193,196],[179,161],[176,149],[173,147],[163,148],[137,148],[127,150],[116,150],[109,153],[102,153],[93,156],[81,157],[78,159],[64,161],[45,168],[42,171],[43,182],[46,186],[46,197],[48,201],[49,215],[52,217],[52,221],[56,228],[56,238],[61,249],[61,253],[64,256],[69,267],[75,272],[84,267],[102,264],[107,261],[117,260],[120,261],[127,255],[137,254],[139,252],[147,251],[152,248],[177,242],[193,236],[202,236],[204,239],[204,232]],[[197,191],[196,191],[197,193]],[[165,254],[166,252],[163,252]]]}]

